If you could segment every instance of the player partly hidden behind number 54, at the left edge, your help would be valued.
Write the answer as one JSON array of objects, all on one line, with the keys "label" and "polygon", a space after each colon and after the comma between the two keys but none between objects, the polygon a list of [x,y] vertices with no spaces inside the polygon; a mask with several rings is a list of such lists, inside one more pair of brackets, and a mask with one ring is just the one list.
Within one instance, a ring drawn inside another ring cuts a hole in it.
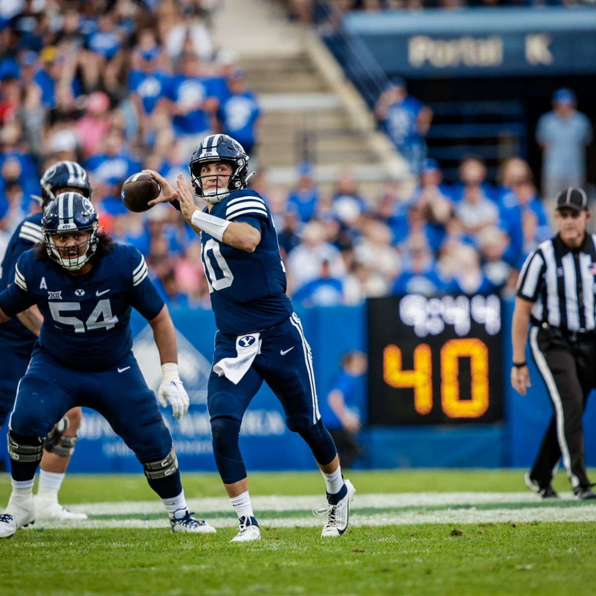
[{"label": "player partly hidden behind number 54, at the left edge", "polygon": [[[41,177],[41,207],[58,194],[76,191],[91,200],[89,176],[76,162],[58,162],[49,166]],[[14,269],[18,257],[33,244],[42,241],[42,213],[30,215],[21,222],[8,243],[0,267],[0,291],[14,283]],[[13,409],[17,386],[25,374],[33,345],[39,335],[41,315],[36,307],[18,314],[6,325],[0,325],[0,427],[4,426]],[[73,408],[52,430],[44,442],[44,455],[39,470],[38,493],[35,495],[35,514],[39,518],[84,520],[84,513],[73,513],[58,503],[58,491],[66,468],[75,451],[81,409]]]}]

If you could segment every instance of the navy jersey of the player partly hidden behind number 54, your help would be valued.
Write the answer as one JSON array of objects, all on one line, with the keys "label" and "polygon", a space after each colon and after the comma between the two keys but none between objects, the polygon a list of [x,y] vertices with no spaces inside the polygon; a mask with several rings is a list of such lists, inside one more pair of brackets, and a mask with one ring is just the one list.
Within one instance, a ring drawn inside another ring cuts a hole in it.
[{"label": "navy jersey of the player partly hidden behind number 54", "polygon": [[[13,283],[18,257],[29,250],[33,244],[42,241],[41,218],[41,213],[31,215],[15,229],[0,266],[0,291]],[[16,317],[0,325],[0,346],[10,349],[11,352],[29,356],[36,339],[35,334],[31,333]]]}]

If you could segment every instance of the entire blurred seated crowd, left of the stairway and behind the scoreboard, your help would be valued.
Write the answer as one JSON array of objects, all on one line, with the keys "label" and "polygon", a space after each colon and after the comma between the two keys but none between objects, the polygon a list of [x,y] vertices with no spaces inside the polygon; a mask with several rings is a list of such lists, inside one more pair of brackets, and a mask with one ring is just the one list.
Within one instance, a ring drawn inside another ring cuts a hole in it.
[{"label": "entire blurred seated crowd, left of the stairway and behind the scoreboard", "polygon": [[[13,14],[11,14],[11,8]],[[215,49],[197,0],[145,6],[14,0],[0,11],[0,254],[37,203],[39,175],[70,159],[89,172],[101,225],[147,257],[170,308],[209,308],[200,241],[172,207],[131,213],[122,182],[143,167],[175,179],[211,131],[252,153],[257,98],[237,57]],[[268,201],[288,274],[303,306],[355,305],[370,296],[513,291],[517,270],[551,234],[530,169],[505,162],[498,185],[476,157],[457,184],[421,161],[415,188],[389,182],[364,196],[343,172],[322,193],[313,164],[293,188],[250,184]]]}]

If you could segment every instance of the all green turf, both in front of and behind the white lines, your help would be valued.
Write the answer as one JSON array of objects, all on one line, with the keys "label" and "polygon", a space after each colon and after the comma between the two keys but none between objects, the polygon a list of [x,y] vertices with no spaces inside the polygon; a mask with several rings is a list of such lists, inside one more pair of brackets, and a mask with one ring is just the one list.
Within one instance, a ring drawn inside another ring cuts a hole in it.
[{"label": "all green turf, both in front of and behind the white lines", "polygon": [[[349,477],[361,495],[527,493],[520,470],[352,471]],[[184,474],[183,479],[188,496],[223,495],[213,474]],[[250,480],[252,492],[259,495],[323,490],[317,473],[259,473]],[[555,487],[569,491],[563,474],[555,479]],[[2,503],[9,493],[10,479],[0,476]],[[67,503],[155,498],[142,474],[72,475],[61,492]],[[383,509],[362,513],[374,515],[375,511]],[[174,535],[166,527],[44,530],[34,526],[0,540],[0,595],[594,593],[594,522],[364,526],[350,527],[340,539],[322,540],[318,527],[268,527],[267,519],[263,512],[263,539],[251,544],[230,544],[235,532],[231,527],[201,536]]]}]

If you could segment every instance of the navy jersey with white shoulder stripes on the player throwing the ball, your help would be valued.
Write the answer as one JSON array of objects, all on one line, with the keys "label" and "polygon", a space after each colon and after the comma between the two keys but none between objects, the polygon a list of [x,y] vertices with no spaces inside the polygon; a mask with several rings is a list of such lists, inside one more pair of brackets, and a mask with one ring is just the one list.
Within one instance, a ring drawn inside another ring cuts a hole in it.
[{"label": "navy jersey with white shoulder stripes on the player throwing the ball", "polygon": [[256,250],[249,253],[201,232],[203,265],[218,329],[238,335],[266,329],[287,319],[293,308],[285,294],[285,269],[265,201],[255,191],[241,189],[216,203],[210,214],[228,221],[246,222],[261,234]]}]

